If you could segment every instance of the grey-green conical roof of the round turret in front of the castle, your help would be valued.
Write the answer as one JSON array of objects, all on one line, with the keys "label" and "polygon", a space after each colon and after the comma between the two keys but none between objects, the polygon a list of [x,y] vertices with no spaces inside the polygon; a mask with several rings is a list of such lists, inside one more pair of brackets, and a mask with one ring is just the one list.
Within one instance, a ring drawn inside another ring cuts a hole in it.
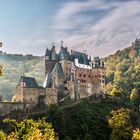
[{"label": "grey-green conical roof of the round turret in front of the castle", "polygon": [[57,76],[63,76],[63,70],[62,70],[62,66],[60,63],[56,63],[53,70],[52,70],[52,75],[57,75]]}]

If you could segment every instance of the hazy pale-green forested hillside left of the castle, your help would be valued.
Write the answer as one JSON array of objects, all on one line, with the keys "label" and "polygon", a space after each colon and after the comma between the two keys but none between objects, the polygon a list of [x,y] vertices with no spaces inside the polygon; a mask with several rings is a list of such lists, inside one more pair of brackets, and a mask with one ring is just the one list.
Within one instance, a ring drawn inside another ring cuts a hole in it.
[{"label": "hazy pale-green forested hillside left of the castle", "polygon": [[44,80],[44,58],[32,55],[6,54],[0,52],[3,76],[0,77],[0,94],[4,100],[11,100],[21,75],[33,76],[38,84]]}]

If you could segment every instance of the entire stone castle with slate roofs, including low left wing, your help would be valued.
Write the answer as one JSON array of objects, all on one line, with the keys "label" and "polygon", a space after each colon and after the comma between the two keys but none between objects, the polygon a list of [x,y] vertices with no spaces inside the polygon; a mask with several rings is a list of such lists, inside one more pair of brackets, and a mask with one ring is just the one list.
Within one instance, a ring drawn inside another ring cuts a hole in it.
[{"label": "entire stone castle with slate roofs, including low left wing", "polygon": [[45,53],[45,81],[39,86],[32,77],[21,76],[16,87],[16,102],[33,106],[57,104],[66,98],[79,100],[95,93],[104,93],[104,62],[91,60],[85,52],[68,51],[63,47],[56,53],[54,44]]}]

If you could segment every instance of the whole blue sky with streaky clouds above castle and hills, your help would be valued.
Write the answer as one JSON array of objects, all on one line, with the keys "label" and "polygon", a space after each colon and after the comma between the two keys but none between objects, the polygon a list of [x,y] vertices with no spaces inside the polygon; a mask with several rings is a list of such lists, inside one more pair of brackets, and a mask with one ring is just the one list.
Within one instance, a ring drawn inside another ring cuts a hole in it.
[{"label": "whole blue sky with streaky clouds above castle and hills", "polygon": [[140,38],[140,0],[0,0],[2,51],[69,50],[107,56]]}]

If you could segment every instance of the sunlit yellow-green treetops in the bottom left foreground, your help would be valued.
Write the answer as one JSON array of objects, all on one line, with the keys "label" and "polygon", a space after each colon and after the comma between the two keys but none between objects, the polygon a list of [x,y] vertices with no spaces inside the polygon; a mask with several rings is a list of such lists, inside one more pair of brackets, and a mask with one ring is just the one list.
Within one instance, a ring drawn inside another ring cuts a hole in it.
[{"label": "sunlit yellow-green treetops in the bottom left foreground", "polygon": [[25,119],[17,122],[14,119],[6,119],[5,123],[11,125],[12,130],[9,135],[0,133],[9,140],[57,140],[57,134],[54,132],[52,125],[44,119],[34,121]]}]

